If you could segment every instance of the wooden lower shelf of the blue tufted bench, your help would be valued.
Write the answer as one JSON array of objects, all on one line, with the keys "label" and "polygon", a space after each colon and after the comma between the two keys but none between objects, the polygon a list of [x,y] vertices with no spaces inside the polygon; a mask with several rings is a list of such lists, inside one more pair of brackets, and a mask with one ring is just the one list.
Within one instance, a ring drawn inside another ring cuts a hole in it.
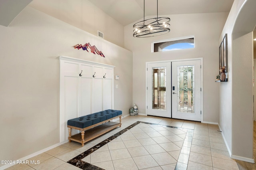
[{"label": "wooden lower shelf of the blue tufted bench", "polygon": [[88,130],[84,131],[84,140],[82,140],[82,132],[75,134],[71,137],[68,137],[69,142],[75,141],[75,142],[79,142],[82,144],[82,146],[84,146],[84,143],[102,135],[105,134],[106,132],[109,132],[110,130],[121,126],[121,123],[116,123],[116,122],[106,122],[102,125],[98,125],[96,127],[90,128]]}]

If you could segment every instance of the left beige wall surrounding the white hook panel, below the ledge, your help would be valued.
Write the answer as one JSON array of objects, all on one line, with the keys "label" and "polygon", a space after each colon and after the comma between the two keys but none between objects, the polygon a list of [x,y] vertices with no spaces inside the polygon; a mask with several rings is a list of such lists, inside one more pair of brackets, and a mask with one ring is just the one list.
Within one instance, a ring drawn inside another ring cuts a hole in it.
[{"label": "left beige wall surrounding the white hook panel, below the ledge", "polygon": [[[132,52],[26,7],[0,26],[0,160],[17,160],[60,142],[60,55],[115,65],[114,109],[132,106]],[[77,50],[96,45],[106,56]],[[0,165],[2,166],[2,165]]]}]

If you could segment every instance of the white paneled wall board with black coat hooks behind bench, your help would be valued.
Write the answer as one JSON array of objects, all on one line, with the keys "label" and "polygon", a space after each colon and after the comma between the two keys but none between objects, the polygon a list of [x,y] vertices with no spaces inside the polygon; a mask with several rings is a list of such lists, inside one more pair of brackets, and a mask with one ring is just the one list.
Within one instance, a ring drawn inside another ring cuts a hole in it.
[{"label": "white paneled wall board with black coat hooks behind bench", "polygon": [[60,142],[69,119],[106,109],[114,109],[114,66],[60,56]]}]

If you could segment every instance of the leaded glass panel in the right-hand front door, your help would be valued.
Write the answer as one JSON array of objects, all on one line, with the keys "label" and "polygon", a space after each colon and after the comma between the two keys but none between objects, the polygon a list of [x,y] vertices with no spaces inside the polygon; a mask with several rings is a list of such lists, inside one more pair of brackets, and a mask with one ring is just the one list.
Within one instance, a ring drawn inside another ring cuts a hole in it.
[{"label": "leaded glass panel in the right-hand front door", "polygon": [[178,66],[178,112],[194,113],[194,65]]}]

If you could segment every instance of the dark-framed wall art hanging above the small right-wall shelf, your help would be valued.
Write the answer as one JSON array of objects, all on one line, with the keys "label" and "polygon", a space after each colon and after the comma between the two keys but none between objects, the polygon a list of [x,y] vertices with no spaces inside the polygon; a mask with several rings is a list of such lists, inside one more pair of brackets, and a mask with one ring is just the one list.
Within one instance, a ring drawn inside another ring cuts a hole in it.
[{"label": "dark-framed wall art hanging above the small right-wall shelf", "polygon": [[225,73],[228,72],[228,38],[227,34],[225,34],[222,42],[220,43],[219,47],[219,67],[225,66],[226,71]]}]

